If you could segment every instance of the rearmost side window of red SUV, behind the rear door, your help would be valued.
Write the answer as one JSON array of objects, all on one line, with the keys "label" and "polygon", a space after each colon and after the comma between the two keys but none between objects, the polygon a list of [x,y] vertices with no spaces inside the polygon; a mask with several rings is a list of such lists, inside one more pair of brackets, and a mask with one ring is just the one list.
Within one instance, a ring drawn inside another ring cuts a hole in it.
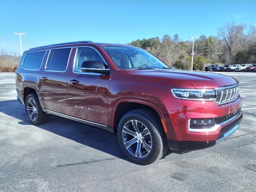
[{"label": "rearmost side window of red SUV, behind the rear door", "polygon": [[30,70],[39,70],[46,51],[26,54],[23,67]]}]

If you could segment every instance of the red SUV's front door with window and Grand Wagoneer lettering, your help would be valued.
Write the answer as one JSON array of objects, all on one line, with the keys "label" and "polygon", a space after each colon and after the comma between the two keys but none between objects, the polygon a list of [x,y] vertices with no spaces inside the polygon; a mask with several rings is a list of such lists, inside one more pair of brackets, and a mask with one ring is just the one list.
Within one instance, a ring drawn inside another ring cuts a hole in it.
[{"label": "red SUV's front door with window and Grand Wagoneer lettering", "polygon": [[96,49],[77,48],[73,68],[68,75],[70,116],[107,125],[110,75],[82,72],[84,61],[101,61],[106,64]]}]

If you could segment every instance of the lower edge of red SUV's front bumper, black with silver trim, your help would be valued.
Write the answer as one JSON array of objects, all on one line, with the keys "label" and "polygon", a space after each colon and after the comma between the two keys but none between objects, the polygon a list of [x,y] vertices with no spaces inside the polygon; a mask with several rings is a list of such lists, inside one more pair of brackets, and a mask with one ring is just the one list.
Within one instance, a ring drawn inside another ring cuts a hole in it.
[{"label": "lower edge of red SUV's front bumper, black with silver trim", "polygon": [[234,132],[236,132],[236,130],[238,130],[238,128],[240,126],[241,120],[242,120],[242,114],[241,114],[241,116],[239,116],[239,118],[232,121],[235,123],[232,124],[232,122],[230,122],[230,124],[232,124],[230,126],[230,128],[225,130],[224,132],[222,132],[219,135],[218,139],[215,141],[188,142],[188,141],[176,141],[176,140],[168,139],[167,140],[168,146],[171,150],[178,150],[178,151],[182,151],[182,152],[190,152],[190,151],[194,151],[194,150],[200,150],[200,149],[212,147],[212,146],[222,142],[223,140],[226,140],[226,138],[228,138],[230,135],[232,135]]}]

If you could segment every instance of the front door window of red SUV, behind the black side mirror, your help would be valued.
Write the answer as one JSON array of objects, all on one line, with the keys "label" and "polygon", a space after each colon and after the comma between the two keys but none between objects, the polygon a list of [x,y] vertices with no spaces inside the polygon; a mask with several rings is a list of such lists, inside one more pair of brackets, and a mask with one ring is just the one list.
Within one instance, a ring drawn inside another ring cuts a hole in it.
[{"label": "front door window of red SUV, behind the black side mirror", "polygon": [[104,63],[100,54],[98,54],[95,49],[90,47],[78,48],[74,65],[75,72],[82,72],[81,66],[84,61],[101,61]]}]

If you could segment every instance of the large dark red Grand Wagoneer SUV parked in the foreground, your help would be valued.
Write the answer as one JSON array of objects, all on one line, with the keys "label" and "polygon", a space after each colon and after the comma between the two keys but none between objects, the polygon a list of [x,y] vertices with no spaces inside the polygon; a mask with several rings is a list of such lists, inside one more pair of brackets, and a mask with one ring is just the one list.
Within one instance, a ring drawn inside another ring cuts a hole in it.
[{"label": "large dark red Grand Wagoneer SUV parked in the foreground", "polygon": [[214,146],[242,120],[236,79],[173,70],[143,49],[120,44],[70,42],[25,51],[16,90],[32,124],[54,114],[108,130],[144,165],[168,148]]}]

